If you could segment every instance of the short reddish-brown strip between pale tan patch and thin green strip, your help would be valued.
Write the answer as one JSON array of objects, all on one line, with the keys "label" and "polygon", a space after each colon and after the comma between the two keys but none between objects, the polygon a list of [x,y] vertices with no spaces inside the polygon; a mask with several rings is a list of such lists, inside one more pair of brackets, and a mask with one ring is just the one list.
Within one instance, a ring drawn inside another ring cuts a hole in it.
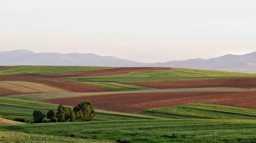
[{"label": "short reddish-brown strip between pale tan patch and thin green strip", "polygon": [[42,83],[49,85],[50,87],[55,87],[58,89],[63,89],[66,91],[70,92],[110,92],[110,91],[115,91],[112,89],[105,89],[105,88],[100,88],[96,87],[93,85],[87,85],[87,84],[81,84],[81,83],[74,83],[74,82],[56,82],[56,81],[41,81],[37,83]]}]

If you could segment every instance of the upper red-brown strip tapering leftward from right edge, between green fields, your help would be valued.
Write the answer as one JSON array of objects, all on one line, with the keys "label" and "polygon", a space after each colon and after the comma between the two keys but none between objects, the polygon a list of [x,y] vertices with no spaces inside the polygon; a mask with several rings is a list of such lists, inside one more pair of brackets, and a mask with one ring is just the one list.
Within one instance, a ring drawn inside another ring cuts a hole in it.
[{"label": "upper red-brown strip tapering leftward from right edge, between green fields", "polygon": [[204,80],[126,82],[154,89],[183,89],[183,88],[256,88],[256,78],[225,78]]}]

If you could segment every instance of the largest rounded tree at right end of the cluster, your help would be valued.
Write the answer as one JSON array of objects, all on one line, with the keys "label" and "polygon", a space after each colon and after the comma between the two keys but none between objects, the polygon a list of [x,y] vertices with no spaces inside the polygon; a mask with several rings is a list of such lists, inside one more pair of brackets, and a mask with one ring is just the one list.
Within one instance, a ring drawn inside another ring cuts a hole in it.
[{"label": "largest rounded tree at right end of the cluster", "polygon": [[[82,102],[75,106],[73,111],[78,112],[78,118],[80,118],[80,121],[91,121],[95,116],[95,111],[93,109],[91,102]],[[82,115],[81,113],[79,113],[79,111],[82,112]]]}]

